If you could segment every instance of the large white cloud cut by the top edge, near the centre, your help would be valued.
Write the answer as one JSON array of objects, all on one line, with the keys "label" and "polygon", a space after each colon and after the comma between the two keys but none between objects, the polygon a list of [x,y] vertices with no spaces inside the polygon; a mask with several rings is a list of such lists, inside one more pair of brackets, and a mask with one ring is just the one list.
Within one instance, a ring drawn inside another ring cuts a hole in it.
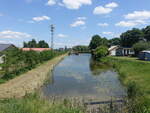
[{"label": "large white cloud cut by the top edge, near the centre", "polygon": [[62,2],[68,9],[79,9],[82,5],[92,4],[92,0],[63,0]]}]

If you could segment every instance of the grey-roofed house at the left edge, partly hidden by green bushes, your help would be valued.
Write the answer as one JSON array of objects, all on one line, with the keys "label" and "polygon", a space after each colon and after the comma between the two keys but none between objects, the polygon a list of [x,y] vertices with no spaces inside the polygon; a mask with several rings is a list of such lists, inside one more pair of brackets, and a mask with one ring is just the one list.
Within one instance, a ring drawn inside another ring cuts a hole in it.
[{"label": "grey-roofed house at the left edge, partly hidden by green bushes", "polygon": [[16,48],[16,46],[13,44],[0,44],[0,64],[4,63],[5,55],[3,52],[12,48]]}]

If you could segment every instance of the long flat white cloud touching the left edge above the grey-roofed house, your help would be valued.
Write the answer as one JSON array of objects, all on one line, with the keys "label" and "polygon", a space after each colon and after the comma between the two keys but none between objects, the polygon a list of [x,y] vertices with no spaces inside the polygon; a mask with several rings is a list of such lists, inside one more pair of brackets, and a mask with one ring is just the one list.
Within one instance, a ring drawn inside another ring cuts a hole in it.
[{"label": "long flat white cloud touching the left edge above the grey-roofed house", "polygon": [[11,30],[1,31],[0,38],[3,39],[22,39],[22,38],[30,38],[31,35],[23,32],[15,32]]}]

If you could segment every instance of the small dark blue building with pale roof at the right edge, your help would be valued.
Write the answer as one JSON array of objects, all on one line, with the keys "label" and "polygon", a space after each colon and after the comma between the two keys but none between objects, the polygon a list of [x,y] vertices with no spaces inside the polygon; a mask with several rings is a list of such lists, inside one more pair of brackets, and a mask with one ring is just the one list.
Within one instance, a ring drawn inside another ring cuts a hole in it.
[{"label": "small dark blue building with pale roof at the right edge", "polygon": [[150,51],[142,51],[139,53],[138,57],[140,60],[150,61]]}]

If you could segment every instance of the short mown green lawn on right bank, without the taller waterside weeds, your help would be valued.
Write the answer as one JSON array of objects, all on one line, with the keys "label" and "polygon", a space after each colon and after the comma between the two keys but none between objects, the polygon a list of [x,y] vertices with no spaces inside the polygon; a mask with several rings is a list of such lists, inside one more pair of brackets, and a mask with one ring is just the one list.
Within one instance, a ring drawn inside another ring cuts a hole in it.
[{"label": "short mown green lawn on right bank, without the taller waterside weeds", "polygon": [[135,82],[143,93],[150,98],[150,62],[130,57],[106,57],[101,60],[111,63],[119,72],[124,85]]}]

